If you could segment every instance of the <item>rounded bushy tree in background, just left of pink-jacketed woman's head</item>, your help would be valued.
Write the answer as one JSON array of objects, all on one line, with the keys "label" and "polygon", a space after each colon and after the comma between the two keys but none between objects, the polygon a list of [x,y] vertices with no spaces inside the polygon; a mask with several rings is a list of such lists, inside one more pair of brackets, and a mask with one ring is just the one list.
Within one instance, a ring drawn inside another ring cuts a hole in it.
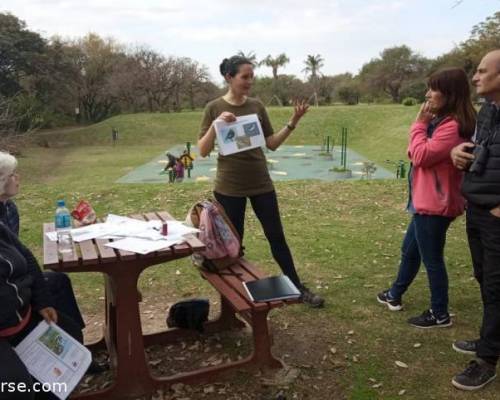
[{"label": "rounded bushy tree in background, just left of pink-jacketed woman's head", "polygon": [[368,90],[381,91],[399,103],[401,89],[424,79],[428,66],[429,61],[408,46],[391,47],[383,50],[380,58],[363,65],[360,78]]}]

